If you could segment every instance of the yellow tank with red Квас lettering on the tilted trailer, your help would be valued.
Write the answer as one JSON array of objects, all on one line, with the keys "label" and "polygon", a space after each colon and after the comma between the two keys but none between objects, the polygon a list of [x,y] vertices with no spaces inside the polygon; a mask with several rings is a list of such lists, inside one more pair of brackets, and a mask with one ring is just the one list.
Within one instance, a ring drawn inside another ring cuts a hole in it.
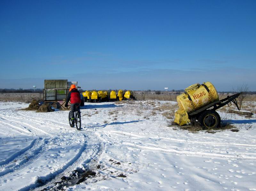
[{"label": "yellow tank with red \u041a\u0432\u0430\u0441 lettering on the tilted trailer", "polygon": [[185,110],[188,114],[218,100],[219,95],[211,82],[190,85],[185,93],[177,96],[180,110]]}]

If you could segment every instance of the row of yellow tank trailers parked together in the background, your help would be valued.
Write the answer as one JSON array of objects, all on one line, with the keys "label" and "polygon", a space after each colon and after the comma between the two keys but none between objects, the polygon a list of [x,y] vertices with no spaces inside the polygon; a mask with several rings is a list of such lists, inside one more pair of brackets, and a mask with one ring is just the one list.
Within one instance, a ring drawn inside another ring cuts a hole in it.
[{"label": "row of yellow tank trailers parked together in the background", "polygon": [[116,93],[116,91],[112,90],[111,92],[109,91],[85,91],[82,93],[84,96],[84,101],[122,101],[122,100],[126,100],[126,99],[132,99],[132,100],[136,100],[135,96],[133,94],[133,92],[131,90],[128,90],[124,93],[123,90],[118,90],[118,92]]}]

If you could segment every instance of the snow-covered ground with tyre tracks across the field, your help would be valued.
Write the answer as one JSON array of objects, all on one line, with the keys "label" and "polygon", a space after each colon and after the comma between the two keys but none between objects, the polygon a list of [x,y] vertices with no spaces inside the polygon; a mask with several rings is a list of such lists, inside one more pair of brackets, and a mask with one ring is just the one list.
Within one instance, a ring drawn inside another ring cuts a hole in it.
[{"label": "snow-covered ground with tyre tracks across the field", "polygon": [[154,110],[163,104],[175,102],[86,103],[77,131],[68,111],[0,102],[0,190],[58,188],[77,169],[96,176],[62,188],[256,190],[255,114],[220,113],[239,132],[191,133],[167,127]]}]

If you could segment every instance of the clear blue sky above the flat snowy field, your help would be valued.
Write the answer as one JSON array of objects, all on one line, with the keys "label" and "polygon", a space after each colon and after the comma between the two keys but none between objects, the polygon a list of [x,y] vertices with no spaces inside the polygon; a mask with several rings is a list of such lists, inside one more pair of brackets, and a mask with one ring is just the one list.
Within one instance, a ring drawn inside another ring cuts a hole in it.
[{"label": "clear blue sky above the flat snowy field", "polygon": [[0,1],[0,88],[256,90],[256,1]]}]

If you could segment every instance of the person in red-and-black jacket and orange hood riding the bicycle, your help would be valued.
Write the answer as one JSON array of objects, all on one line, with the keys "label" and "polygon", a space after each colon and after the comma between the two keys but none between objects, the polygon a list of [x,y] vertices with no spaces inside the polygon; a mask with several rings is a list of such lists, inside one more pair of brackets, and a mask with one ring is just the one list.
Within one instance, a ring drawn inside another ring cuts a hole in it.
[{"label": "person in red-and-black jacket and orange hood riding the bicycle", "polygon": [[76,89],[76,85],[72,84],[70,89],[69,89],[69,93],[68,93],[68,98],[65,104],[65,107],[68,107],[68,102],[70,100],[71,103],[71,120],[72,120],[72,124],[71,127],[75,126],[75,111],[76,111],[76,107],[78,109],[78,112],[80,113],[80,104],[81,104],[81,98],[80,98],[80,92]]}]

